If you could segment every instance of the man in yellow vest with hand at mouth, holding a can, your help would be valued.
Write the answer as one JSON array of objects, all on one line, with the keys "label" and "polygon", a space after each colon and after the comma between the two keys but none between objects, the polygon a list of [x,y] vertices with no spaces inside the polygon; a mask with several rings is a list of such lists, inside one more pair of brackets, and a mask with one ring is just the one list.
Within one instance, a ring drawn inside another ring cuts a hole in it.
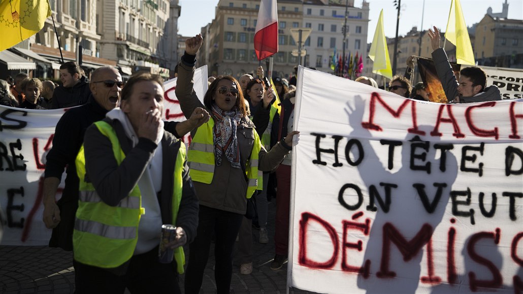
[{"label": "man in yellow vest with hand at mouth, holding a can", "polygon": [[[121,108],[85,133],[76,158],[77,293],[180,293],[181,246],[195,238],[199,206],[185,144],[163,128],[163,97],[160,77],[134,75],[122,89]],[[199,125],[207,119],[202,114]],[[167,243],[171,263],[158,261],[162,224],[176,227]]]}]

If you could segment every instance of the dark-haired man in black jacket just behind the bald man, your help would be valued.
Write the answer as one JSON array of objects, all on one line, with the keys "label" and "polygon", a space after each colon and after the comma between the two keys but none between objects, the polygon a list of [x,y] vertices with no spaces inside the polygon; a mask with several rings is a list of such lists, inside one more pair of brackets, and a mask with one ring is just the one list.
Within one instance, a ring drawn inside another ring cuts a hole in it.
[{"label": "dark-haired man in black jacket just behind the bald man", "polygon": [[74,61],[60,65],[62,86],[54,89],[51,109],[74,107],[87,103],[91,95],[89,80]]}]

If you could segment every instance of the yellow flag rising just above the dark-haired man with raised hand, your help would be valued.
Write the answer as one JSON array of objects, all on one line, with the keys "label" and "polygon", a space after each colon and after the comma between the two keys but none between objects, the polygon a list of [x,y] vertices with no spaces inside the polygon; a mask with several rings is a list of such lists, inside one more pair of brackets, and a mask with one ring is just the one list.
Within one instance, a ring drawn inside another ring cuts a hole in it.
[{"label": "yellow flag rising just above the dark-haired man with raised hand", "polygon": [[474,52],[470,43],[469,31],[465,25],[465,18],[459,0],[452,0],[450,5],[449,21],[445,30],[445,38],[456,45],[456,59],[459,64],[476,64]]}]

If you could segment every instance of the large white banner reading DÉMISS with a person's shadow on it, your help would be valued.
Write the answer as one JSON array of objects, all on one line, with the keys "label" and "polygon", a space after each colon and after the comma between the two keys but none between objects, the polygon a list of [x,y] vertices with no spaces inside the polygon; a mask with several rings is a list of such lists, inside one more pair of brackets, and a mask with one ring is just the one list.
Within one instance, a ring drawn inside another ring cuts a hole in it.
[{"label": "large white banner reading D\u00c9MISS with a person's shadow on it", "polygon": [[523,289],[523,102],[442,105],[300,67],[288,285]]}]

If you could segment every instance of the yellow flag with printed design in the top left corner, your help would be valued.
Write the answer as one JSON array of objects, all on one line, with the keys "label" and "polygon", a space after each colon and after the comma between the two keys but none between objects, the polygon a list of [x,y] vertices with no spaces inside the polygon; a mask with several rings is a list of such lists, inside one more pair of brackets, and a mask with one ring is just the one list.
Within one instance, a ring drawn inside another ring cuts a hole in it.
[{"label": "yellow flag with printed design in the top left corner", "polygon": [[49,16],[48,0],[0,0],[0,51],[35,35]]}]

